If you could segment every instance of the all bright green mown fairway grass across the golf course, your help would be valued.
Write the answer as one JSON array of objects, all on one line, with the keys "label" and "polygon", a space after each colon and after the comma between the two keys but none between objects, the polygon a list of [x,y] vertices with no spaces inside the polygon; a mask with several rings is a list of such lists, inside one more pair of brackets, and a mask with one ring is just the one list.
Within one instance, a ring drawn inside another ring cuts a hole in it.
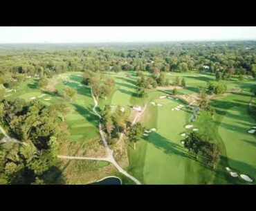
[{"label": "all bright green mown fairway grass across the golf course", "polygon": [[[147,73],[145,73],[146,75]],[[240,88],[239,93],[228,93],[211,101],[217,114],[214,120],[205,111],[200,111],[195,122],[190,122],[192,111],[180,98],[161,98],[169,90],[152,89],[147,97],[140,98],[136,94],[136,79],[134,72],[103,73],[111,76],[116,82],[115,89],[107,99],[100,99],[100,106],[109,103],[112,106],[122,106],[131,109],[135,104],[147,104],[147,109],[140,120],[147,129],[155,128],[149,136],[141,138],[136,149],[127,145],[129,165],[125,167],[129,174],[138,178],[143,184],[244,184],[241,178],[233,178],[226,167],[239,174],[249,175],[256,179],[256,139],[248,134],[250,127],[256,121],[250,114],[249,103],[255,98],[250,95],[253,80],[239,82],[235,79],[228,82],[228,89]],[[127,75],[129,77],[127,77]],[[167,77],[185,77],[187,86],[178,91],[179,95],[198,93],[199,86],[211,80],[214,75],[209,73],[169,73]],[[62,93],[68,86],[77,91],[72,102],[68,102],[71,112],[65,119],[70,131],[71,142],[98,140],[98,119],[92,112],[93,98],[88,87],[81,84],[82,73],[62,73],[52,79],[55,89]],[[40,100],[44,104],[51,104],[60,100],[60,96],[37,89],[38,80],[28,80],[15,93],[7,98],[23,98],[24,100]],[[49,100],[48,100],[49,99]],[[155,102],[152,104],[150,102]],[[162,104],[162,106],[157,106]],[[181,109],[176,107],[183,105]],[[194,160],[193,156],[183,147],[181,134],[192,129],[185,129],[185,125],[193,125],[207,134],[211,140],[221,145],[221,163],[217,169],[211,169]],[[90,161],[88,161],[90,162]],[[104,165],[103,165],[104,166]],[[119,173],[113,173],[118,176]],[[127,181],[132,183],[132,181]]]}]

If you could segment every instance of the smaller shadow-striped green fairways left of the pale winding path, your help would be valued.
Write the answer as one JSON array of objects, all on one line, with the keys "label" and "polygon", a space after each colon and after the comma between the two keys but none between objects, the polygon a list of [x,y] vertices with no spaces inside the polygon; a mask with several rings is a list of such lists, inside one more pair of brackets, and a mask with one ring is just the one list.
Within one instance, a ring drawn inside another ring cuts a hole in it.
[{"label": "smaller shadow-striped green fairways left of the pale winding path", "polygon": [[[70,131],[70,140],[91,140],[93,138],[99,138],[97,120],[93,112],[93,99],[91,98],[91,91],[86,86],[82,85],[82,75],[80,72],[62,73],[55,75],[53,80],[56,80],[55,89],[60,93],[63,93],[63,89],[68,86],[77,91],[75,99],[71,102],[66,100],[70,105],[70,112],[66,115],[65,121]],[[44,94],[42,98],[38,98]],[[41,100],[45,104],[52,104],[61,100],[62,97],[52,95],[47,91],[41,91],[37,88],[37,80],[28,80],[26,83],[21,84],[16,93],[13,93],[8,98],[23,98],[24,100]],[[50,100],[45,100],[50,99]]]}]

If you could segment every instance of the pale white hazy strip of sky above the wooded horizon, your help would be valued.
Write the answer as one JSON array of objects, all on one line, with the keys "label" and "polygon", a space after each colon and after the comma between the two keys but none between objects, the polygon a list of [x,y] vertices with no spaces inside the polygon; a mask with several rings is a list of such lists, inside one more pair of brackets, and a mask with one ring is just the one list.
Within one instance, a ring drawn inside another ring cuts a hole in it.
[{"label": "pale white hazy strip of sky above the wooded horizon", "polygon": [[256,27],[0,27],[0,43],[256,40]]}]

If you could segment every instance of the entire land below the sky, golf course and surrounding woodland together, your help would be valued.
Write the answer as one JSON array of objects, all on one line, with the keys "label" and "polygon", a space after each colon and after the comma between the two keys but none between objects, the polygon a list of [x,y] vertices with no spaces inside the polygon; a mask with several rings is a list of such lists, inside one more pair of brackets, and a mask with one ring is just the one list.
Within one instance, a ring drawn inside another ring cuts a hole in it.
[{"label": "entire land below the sky, golf course and surrounding woodland together", "polygon": [[0,184],[255,185],[255,49],[0,44]]}]

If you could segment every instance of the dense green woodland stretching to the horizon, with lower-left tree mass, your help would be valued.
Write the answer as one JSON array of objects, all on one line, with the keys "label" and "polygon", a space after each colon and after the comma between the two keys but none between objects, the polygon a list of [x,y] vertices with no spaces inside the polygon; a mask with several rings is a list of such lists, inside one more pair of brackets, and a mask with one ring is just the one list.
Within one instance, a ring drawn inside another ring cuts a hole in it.
[{"label": "dense green woodland stretching to the horizon, with lower-left tree mass", "polygon": [[[151,88],[169,85],[163,73],[210,71],[216,74],[216,82],[210,83],[208,90],[221,93],[226,91],[223,80],[230,75],[239,75],[241,80],[244,75],[256,79],[255,47],[256,42],[190,42],[129,46],[1,45],[0,122],[8,134],[26,145],[0,145],[0,183],[44,183],[43,175],[55,165],[58,147],[65,140],[67,131],[64,104],[46,107],[37,101],[25,102],[19,98],[8,101],[3,98],[4,89],[16,89],[30,77],[39,79],[39,86],[43,87],[47,84],[47,78],[53,77],[54,74],[82,71],[83,83],[91,86],[95,96],[107,98],[115,82],[111,78],[100,77],[98,73],[136,71],[140,76],[136,84],[138,94],[145,95],[145,89],[150,88],[147,87],[148,84]],[[152,73],[152,76],[144,77],[140,75],[140,71]],[[176,85],[185,86],[185,81],[180,82],[177,78]],[[75,95],[73,90],[65,92],[70,98]],[[205,107],[203,100],[201,107]],[[111,140],[117,138],[118,132],[124,131],[128,123],[122,113],[117,112],[111,116],[109,109],[105,107],[102,111],[102,123]],[[120,107],[117,110],[119,111]],[[58,121],[58,114],[62,121]],[[136,125],[129,134],[140,134],[142,130],[140,125]]]}]

